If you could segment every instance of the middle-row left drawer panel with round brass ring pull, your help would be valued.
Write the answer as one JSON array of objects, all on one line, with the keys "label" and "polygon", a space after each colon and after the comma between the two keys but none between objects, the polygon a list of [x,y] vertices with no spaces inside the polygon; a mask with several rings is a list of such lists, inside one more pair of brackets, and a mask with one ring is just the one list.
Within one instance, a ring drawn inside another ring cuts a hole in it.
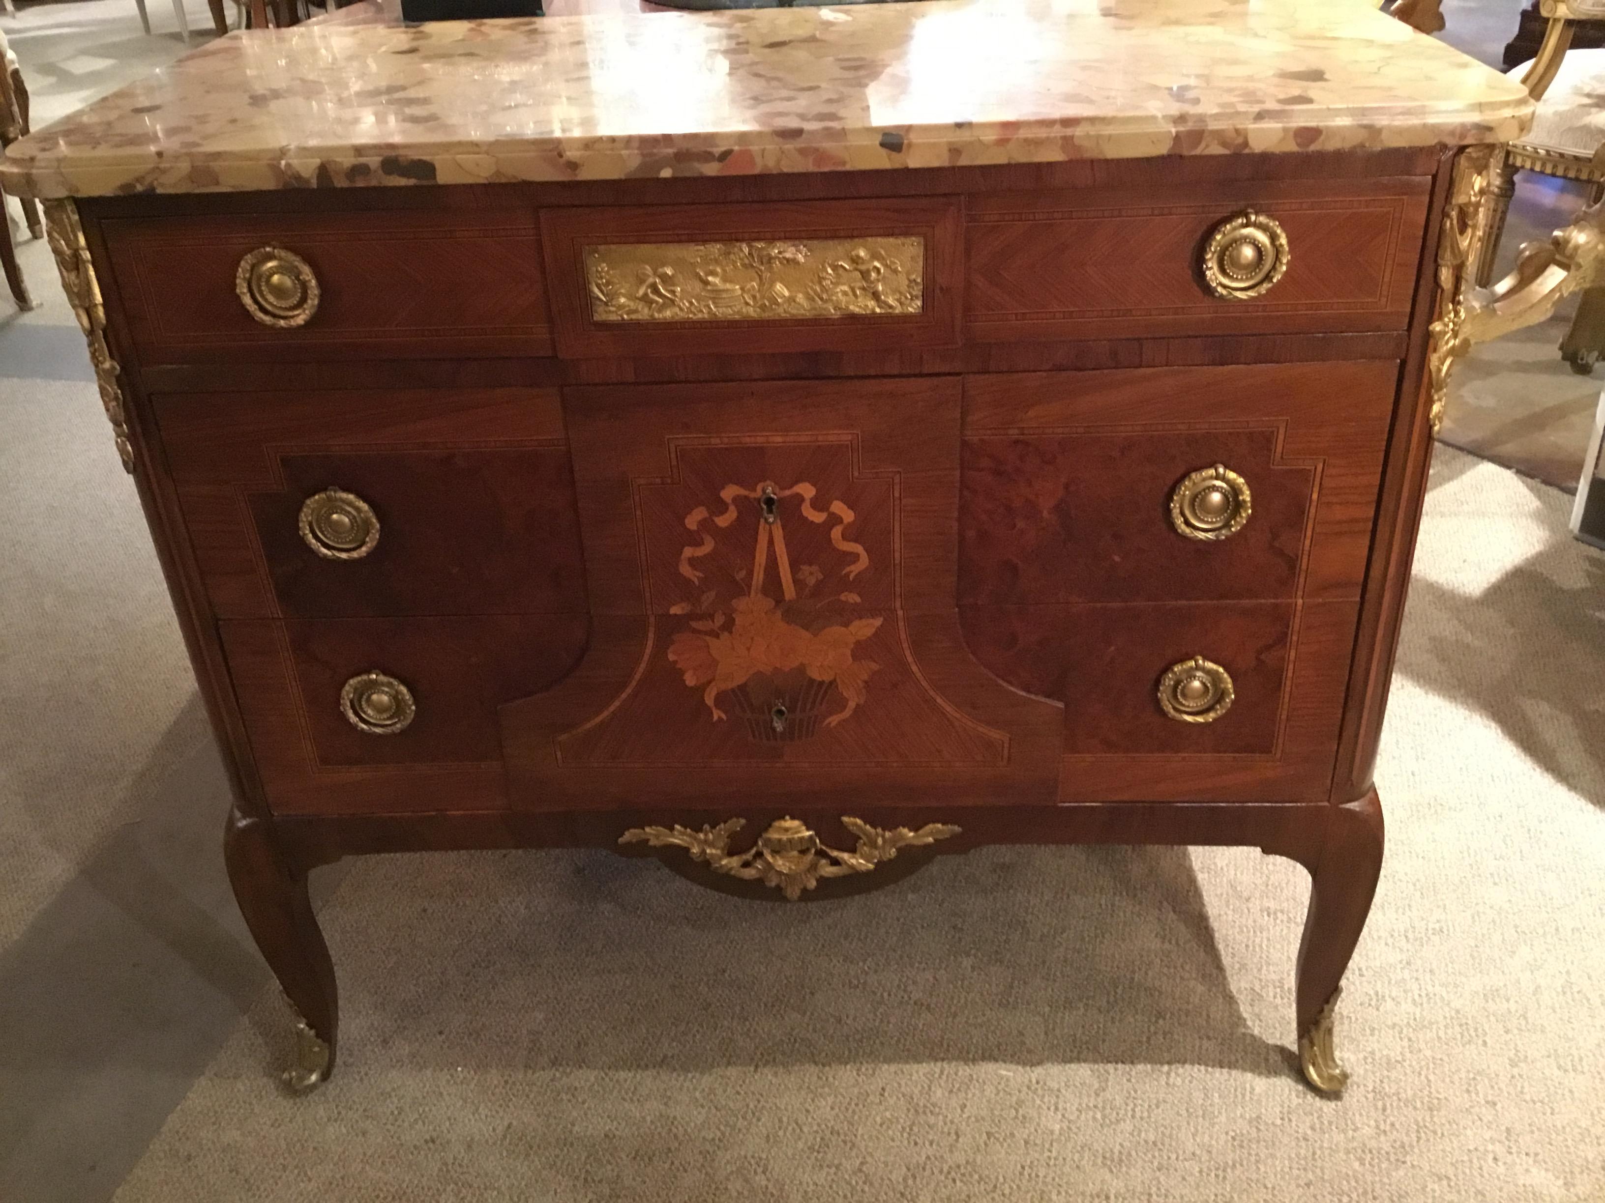
[{"label": "middle-row left drawer panel with round brass ring pull", "polygon": [[555,391],[156,398],[220,618],[584,613]]}]

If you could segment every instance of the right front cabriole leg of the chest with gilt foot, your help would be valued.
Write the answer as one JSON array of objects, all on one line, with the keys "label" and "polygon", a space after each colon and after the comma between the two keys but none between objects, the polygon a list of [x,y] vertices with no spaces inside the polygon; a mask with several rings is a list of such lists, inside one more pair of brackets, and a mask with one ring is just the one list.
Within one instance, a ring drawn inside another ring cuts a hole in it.
[{"label": "right front cabriole leg of the chest with gilt foot", "polygon": [[1382,804],[1372,789],[1332,807],[1310,869],[1310,911],[1298,945],[1298,1063],[1318,1091],[1337,1094],[1348,1071],[1332,1051],[1339,983],[1359,943],[1382,873]]}]

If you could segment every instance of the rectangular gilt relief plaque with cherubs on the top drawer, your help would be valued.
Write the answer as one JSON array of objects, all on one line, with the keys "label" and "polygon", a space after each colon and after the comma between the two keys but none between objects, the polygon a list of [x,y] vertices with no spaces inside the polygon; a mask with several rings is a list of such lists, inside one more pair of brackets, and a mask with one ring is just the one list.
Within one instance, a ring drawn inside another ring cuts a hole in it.
[{"label": "rectangular gilt relief plaque with cherubs on the top drawer", "polygon": [[597,322],[753,321],[924,311],[924,239],[586,247]]}]

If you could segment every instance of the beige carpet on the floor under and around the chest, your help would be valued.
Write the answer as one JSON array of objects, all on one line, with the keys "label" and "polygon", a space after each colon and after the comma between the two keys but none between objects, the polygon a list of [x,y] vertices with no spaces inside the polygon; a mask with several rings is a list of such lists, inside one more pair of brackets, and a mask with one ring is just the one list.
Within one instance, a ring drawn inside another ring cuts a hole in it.
[{"label": "beige carpet on the floor under and around the chest", "polygon": [[1562,494],[1440,452],[1340,1104],[1287,1049],[1303,871],[1130,849],[823,906],[607,853],[356,861],[340,1071],[289,1099],[132,491],[53,388],[0,391],[32,431],[0,465],[0,1198],[1605,1200],[1605,558]]}]

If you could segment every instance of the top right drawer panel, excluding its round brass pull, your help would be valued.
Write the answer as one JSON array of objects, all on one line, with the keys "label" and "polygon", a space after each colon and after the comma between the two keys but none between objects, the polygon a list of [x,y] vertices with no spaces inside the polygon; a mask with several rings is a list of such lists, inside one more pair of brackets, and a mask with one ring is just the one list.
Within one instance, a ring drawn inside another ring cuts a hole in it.
[{"label": "top right drawer panel, excluding its round brass pull", "polygon": [[[971,338],[1388,330],[1409,324],[1427,223],[1427,176],[990,192],[965,210]],[[1221,300],[1201,257],[1247,209],[1287,233],[1287,274]]]}]

